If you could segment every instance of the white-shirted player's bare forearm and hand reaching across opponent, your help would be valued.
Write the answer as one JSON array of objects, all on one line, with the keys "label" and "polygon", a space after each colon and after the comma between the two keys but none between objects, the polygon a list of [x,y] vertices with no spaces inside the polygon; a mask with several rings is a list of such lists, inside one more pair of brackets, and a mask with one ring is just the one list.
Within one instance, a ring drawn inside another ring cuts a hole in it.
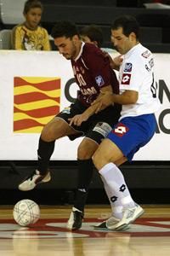
[{"label": "white-shirted player's bare forearm and hand reaching across opponent", "polygon": [[104,92],[100,95],[92,105],[98,103],[95,113],[98,113],[104,108],[107,108],[113,103],[121,105],[135,104],[138,101],[139,93],[136,90],[125,90],[121,95],[113,94],[111,92]]}]

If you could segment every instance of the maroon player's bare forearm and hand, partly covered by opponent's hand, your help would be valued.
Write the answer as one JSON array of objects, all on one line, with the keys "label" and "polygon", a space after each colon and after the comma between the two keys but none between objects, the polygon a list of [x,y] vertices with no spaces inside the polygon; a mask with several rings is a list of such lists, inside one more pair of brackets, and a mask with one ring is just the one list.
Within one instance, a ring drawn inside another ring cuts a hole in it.
[{"label": "maroon player's bare forearm and hand, partly covered by opponent's hand", "polygon": [[[101,92],[100,92],[99,96],[97,97],[97,100],[99,100],[99,98],[101,96],[103,96],[105,93],[111,94],[112,87],[111,87],[111,85],[108,85],[108,86],[103,87],[100,91]],[[82,122],[87,121],[91,115],[93,115],[94,113],[97,112],[97,109],[99,108],[99,106],[100,106],[100,102],[95,102],[93,105],[88,107],[83,113],[75,115],[73,118],[69,119],[70,125],[72,125],[72,124],[77,125],[77,126],[81,125]],[[106,107],[103,106],[102,108],[99,108],[99,109],[101,111]]]}]

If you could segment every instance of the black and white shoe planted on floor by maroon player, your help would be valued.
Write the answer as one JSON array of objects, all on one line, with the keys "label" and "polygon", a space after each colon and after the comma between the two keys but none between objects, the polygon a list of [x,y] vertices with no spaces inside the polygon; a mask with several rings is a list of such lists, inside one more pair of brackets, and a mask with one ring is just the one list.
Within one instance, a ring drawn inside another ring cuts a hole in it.
[{"label": "black and white shoe planted on floor by maroon player", "polygon": [[82,211],[72,207],[72,212],[67,222],[67,228],[69,230],[79,230],[82,227],[83,216]]}]

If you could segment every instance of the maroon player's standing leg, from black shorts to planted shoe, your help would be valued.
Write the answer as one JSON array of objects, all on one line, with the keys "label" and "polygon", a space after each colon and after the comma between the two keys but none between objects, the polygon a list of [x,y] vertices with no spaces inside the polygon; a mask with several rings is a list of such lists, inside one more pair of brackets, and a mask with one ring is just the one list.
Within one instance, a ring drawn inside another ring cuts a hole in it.
[{"label": "maroon player's standing leg, from black shorts to planted shoe", "polygon": [[120,117],[120,111],[121,107],[119,105],[111,106],[105,108],[105,110],[98,114],[94,114],[87,121],[88,131],[86,131],[86,138],[79,145],[77,153],[78,185],[74,207],[72,208],[71,216],[68,221],[68,228],[70,229],[76,230],[80,229],[82,226],[82,217],[88,197],[88,188],[94,171],[91,157],[102,140],[107,137],[112,129],[111,127],[116,124]]}]

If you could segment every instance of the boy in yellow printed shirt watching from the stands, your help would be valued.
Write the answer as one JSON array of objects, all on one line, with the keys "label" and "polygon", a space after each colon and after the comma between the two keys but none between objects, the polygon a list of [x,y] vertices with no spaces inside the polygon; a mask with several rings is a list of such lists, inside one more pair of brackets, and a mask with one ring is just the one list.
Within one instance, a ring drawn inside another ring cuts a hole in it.
[{"label": "boy in yellow printed shirt watching from the stands", "polygon": [[27,0],[23,15],[26,21],[14,26],[12,30],[12,49],[50,50],[48,32],[40,26],[42,3],[38,0]]}]

